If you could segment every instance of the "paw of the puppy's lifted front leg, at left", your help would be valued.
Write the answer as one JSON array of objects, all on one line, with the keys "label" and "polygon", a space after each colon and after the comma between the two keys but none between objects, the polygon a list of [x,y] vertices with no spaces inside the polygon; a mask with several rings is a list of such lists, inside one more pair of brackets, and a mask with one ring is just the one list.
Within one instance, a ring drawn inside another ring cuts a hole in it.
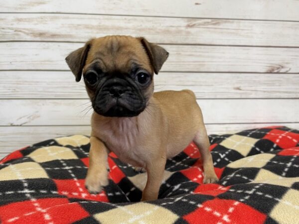
[{"label": "paw of the puppy's lifted front leg, at left", "polygon": [[90,194],[100,193],[108,183],[108,172],[106,169],[100,172],[89,171],[85,179],[85,187]]}]

